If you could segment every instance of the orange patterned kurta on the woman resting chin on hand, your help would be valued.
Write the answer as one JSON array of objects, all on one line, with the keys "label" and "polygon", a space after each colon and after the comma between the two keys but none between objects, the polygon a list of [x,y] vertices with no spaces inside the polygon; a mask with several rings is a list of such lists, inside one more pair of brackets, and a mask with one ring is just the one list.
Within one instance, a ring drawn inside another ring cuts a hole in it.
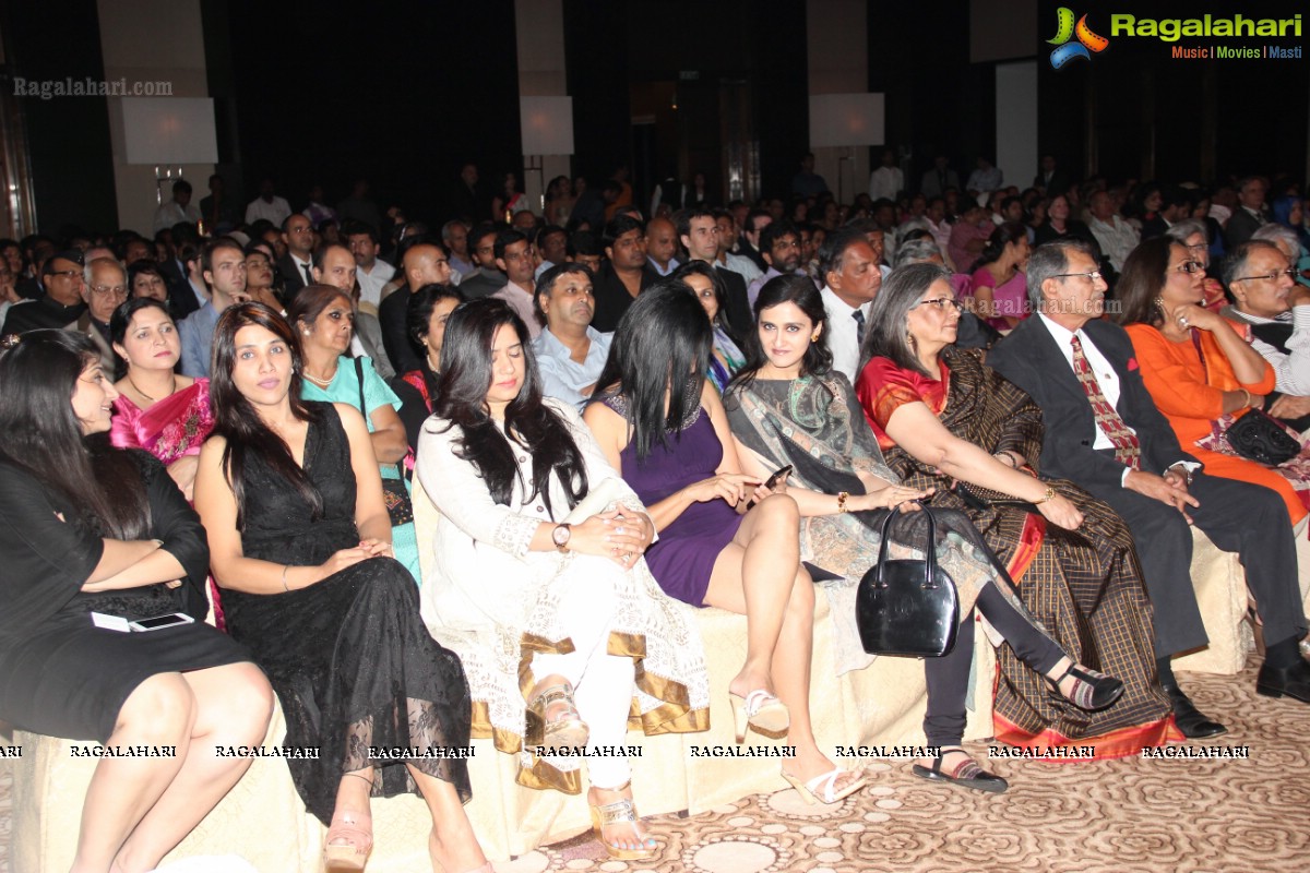
[{"label": "orange patterned kurta on the woman resting chin on hand", "polygon": [[[1259,382],[1239,382],[1233,365],[1209,331],[1195,331],[1201,338],[1205,363],[1193,340],[1171,342],[1150,325],[1129,325],[1128,335],[1141,365],[1142,381],[1151,399],[1169,419],[1183,450],[1205,465],[1205,472],[1225,479],[1254,482],[1273,488],[1288,505],[1292,524],[1306,516],[1306,508],[1292,484],[1276,470],[1244,458],[1210,452],[1196,441],[1210,435],[1210,421],[1224,414],[1224,391],[1246,389],[1251,394],[1273,390],[1275,374],[1268,361]],[[1246,411],[1242,411],[1244,415]],[[1241,418],[1241,416],[1238,416]]]}]

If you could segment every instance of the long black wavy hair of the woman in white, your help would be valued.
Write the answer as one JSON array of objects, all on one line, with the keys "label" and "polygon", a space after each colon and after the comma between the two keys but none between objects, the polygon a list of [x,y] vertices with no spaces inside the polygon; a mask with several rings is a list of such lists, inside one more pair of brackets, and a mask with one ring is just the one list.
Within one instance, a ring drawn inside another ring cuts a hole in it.
[{"label": "long black wavy hair of the woman in white", "polygon": [[[702,313],[703,319],[703,313]],[[495,378],[491,346],[496,331],[514,327],[523,353],[523,385],[519,397],[504,410],[504,424],[496,425],[486,406],[487,389]],[[587,495],[587,466],[569,425],[541,402],[541,377],[532,353],[528,327],[508,304],[483,298],[460,304],[445,322],[441,342],[441,374],[432,414],[457,424],[464,436],[455,453],[468,461],[487,483],[491,499],[500,505],[514,500],[514,484],[520,480],[514,459],[514,444],[532,453],[532,491],[524,503],[541,495],[546,512],[550,505],[550,474],[559,476],[569,508]]]}]

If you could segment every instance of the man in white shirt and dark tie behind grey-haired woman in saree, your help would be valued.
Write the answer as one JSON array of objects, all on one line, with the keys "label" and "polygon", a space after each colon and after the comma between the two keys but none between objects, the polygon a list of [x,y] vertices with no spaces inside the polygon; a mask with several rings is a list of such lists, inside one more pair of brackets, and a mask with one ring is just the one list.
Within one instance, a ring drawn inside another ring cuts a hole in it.
[{"label": "man in white shirt and dark tie behind grey-haired woman in saree", "polygon": [[869,310],[883,287],[878,257],[863,232],[855,228],[834,230],[819,250],[819,276],[824,283],[820,293],[828,310],[832,368],[845,373],[854,385]]}]

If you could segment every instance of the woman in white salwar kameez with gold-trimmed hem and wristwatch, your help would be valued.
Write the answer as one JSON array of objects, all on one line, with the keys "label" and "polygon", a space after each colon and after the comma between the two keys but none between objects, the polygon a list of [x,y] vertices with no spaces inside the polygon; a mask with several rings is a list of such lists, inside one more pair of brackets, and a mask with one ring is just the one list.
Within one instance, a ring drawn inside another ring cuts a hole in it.
[{"label": "woman in white salwar kameez with gold-trimmed hem and wristwatch", "polygon": [[[700,637],[642,559],[655,527],[578,412],[542,399],[506,304],[451,314],[438,395],[418,444],[441,513],[423,618],[464,662],[473,736],[520,755],[520,784],[578,793],[579,758],[538,746],[622,746],[634,708],[648,734],[706,729]],[[587,760],[597,839],[651,857],[626,758]]]}]

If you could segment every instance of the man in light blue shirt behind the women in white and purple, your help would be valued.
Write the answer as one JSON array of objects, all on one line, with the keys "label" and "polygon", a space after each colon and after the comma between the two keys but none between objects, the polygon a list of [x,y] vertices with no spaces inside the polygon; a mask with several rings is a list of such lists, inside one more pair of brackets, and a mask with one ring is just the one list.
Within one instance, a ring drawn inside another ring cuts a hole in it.
[{"label": "man in light blue shirt behind the women in white and purple", "polygon": [[613,334],[591,326],[595,313],[591,271],[579,263],[549,268],[537,284],[546,327],[532,340],[541,393],[582,408],[605,368]]}]

